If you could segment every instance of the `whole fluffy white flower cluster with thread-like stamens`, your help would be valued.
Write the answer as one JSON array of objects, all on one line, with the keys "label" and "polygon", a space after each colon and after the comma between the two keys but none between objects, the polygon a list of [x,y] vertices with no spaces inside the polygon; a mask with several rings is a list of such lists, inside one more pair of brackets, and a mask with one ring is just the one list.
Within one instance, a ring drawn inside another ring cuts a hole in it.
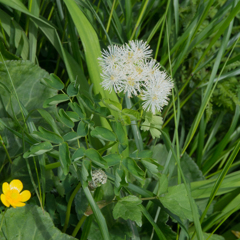
[{"label": "whole fluffy white flower cluster with thread-like stamens", "polygon": [[146,42],[108,46],[99,60],[103,70],[101,84],[105,90],[124,92],[128,97],[140,95],[143,109],[153,114],[167,105],[173,82],[152,59],[152,50]]}]

